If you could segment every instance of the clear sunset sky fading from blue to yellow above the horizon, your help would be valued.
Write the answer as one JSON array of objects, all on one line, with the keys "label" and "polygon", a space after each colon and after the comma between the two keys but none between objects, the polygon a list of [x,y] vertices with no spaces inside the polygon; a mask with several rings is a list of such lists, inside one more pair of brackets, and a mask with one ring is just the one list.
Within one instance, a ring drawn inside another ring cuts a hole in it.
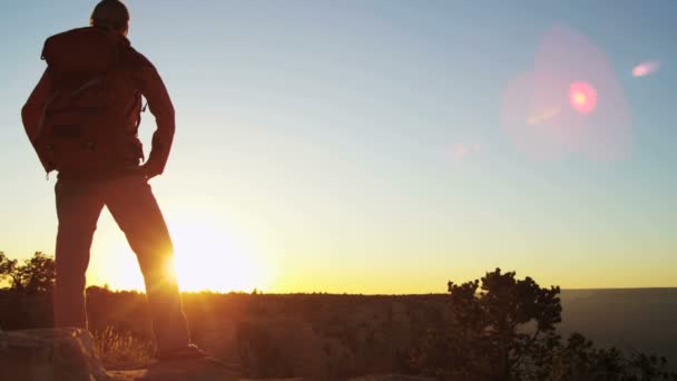
[{"label": "clear sunset sky fading from blue to yellow above the horizon", "polygon": [[[677,286],[674,1],[126,3],[177,110],[150,184],[183,290],[438,293],[496,267],[565,289]],[[10,257],[53,253],[56,176],[20,109],[45,39],[95,4],[0,3]],[[599,107],[548,108],[570,90],[562,62]],[[634,76],[642,62],[659,65]],[[154,129],[147,113],[146,149]],[[107,212],[88,282],[143,287]]]}]

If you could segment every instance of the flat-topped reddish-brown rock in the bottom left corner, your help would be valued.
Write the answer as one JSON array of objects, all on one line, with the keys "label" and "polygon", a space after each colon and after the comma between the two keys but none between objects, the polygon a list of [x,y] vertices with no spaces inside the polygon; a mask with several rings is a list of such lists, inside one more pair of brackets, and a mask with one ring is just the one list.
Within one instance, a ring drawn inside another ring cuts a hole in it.
[{"label": "flat-topped reddish-brown rock in the bottom left corner", "polygon": [[0,380],[109,381],[89,332],[0,331]]}]

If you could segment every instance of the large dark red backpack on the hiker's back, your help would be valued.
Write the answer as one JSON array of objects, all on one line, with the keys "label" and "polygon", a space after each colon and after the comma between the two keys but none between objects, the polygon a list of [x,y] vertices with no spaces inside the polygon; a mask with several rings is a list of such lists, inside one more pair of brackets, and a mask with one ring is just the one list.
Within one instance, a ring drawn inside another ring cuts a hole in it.
[{"label": "large dark red backpack on the hiker's back", "polygon": [[42,59],[53,86],[36,149],[48,173],[96,173],[143,158],[141,95],[130,86],[125,55],[131,48],[125,41],[89,27],[45,42]]}]

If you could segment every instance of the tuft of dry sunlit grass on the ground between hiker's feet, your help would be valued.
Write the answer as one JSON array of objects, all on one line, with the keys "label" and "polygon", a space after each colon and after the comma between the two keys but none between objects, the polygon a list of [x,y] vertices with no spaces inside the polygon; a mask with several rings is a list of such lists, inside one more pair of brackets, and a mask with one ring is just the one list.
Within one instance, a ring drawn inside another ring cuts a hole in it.
[{"label": "tuft of dry sunlit grass on the ground between hiker's feet", "polygon": [[153,342],[130,331],[108,326],[94,332],[94,340],[97,354],[106,369],[140,369],[153,360]]}]

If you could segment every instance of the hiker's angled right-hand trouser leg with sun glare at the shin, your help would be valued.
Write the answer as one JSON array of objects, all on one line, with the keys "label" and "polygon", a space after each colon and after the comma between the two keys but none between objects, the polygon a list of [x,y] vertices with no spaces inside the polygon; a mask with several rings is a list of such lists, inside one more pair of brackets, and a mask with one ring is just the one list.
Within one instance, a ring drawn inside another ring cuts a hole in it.
[{"label": "hiker's angled right-hand trouser leg with sun glare at the shin", "polygon": [[158,353],[185,349],[190,338],[174,272],[174,248],[150,185],[137,175],[107,183],[106,205],[144,274]]}]

